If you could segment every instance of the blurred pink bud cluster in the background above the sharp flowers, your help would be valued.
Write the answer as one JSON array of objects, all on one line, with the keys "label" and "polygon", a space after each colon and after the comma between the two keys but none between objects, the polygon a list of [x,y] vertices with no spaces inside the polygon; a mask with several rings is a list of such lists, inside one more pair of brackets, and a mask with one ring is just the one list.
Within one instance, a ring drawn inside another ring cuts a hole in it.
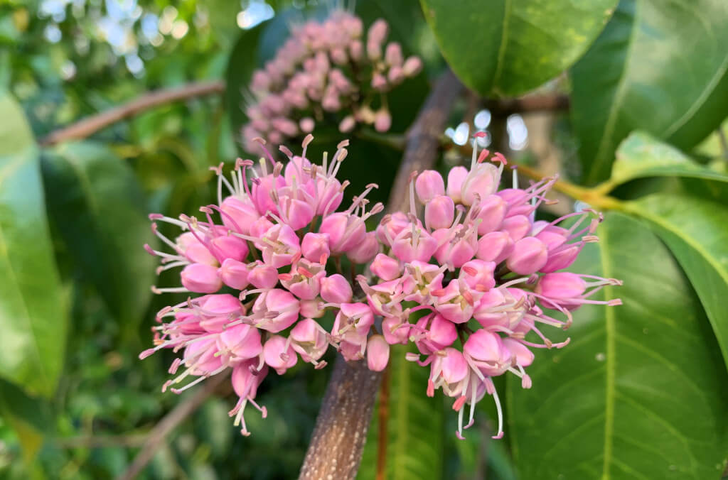
[{"label": "blurred pink bud cluster in the background above the sharp flowers", "polygon": [[[333,118],[341,132],[357,124],[389,130],[386,94],[419,73],[422,60],[405,59],[400,44],[387,44],[387,30],[380,19],[365,33],[362,21],[343,10],[323,23],[293,27],[274,59],[253,73],[242,137],[280,145],[312,132],[325,117]],[[245,148],[258,151],[250,140]]]}]

